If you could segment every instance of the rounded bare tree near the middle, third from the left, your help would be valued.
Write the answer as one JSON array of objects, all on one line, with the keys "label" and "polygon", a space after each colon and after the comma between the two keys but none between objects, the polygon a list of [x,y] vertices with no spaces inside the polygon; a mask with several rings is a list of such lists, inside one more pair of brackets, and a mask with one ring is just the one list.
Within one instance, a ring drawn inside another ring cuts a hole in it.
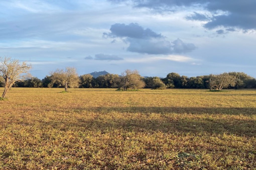
[{"label": "rounded bare tree near the middle, third from the left", "polygon": [[121,75],[119,89],[127,90],[128,88],[143,88],[145,86],[145,82],[137,70],[126,69]]}]

